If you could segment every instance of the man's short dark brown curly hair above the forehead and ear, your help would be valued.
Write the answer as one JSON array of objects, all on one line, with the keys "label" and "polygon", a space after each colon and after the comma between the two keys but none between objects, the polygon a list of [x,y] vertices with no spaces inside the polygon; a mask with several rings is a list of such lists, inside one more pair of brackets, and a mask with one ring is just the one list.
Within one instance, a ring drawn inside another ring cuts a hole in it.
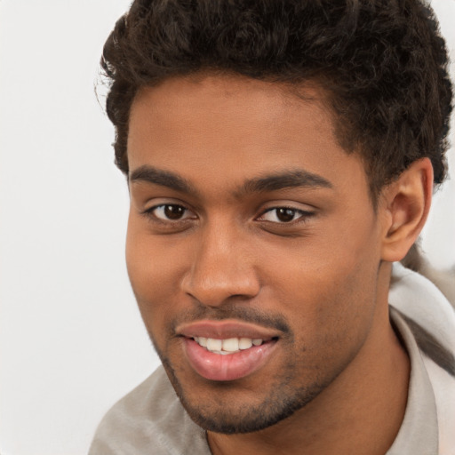
[{"label": "man's short dark brown curly hair above the forehead and ear", "polygon": [[425,156],[435,183],[445,176],[451,81],[423,0],[136,0],[108,36],[101,67],[125,173],[140,87],[208,70],[321,86],[337,140],[362,157],[372,196]]}]

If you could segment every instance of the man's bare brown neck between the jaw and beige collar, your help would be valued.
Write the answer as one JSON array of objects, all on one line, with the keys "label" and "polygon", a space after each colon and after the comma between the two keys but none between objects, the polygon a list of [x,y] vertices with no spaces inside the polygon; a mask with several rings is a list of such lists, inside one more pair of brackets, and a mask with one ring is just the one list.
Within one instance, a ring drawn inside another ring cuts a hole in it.
[{"label": "man's bare brown neck between the jaw and beige collar", "polygon": [[375,323],[362,349],[337,379],[272,427],[237,435],[209,432],[213,455],[387,452],[403,421],[410,362],[388,318],[390,267],[385,265],[379,273],[384,284],[379,287]]}]

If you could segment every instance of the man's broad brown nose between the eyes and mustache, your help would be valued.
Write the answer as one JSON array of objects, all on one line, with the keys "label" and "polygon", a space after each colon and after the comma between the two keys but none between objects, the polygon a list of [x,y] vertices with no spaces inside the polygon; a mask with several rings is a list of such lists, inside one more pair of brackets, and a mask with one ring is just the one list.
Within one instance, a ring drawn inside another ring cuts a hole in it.
[{"label": "man's broad brown nose between the eyes and mustache", "polygon": [[251,243],[245,236],[224,223],[201,229],[193,260],[181,282],[182,291],[207,307],[255,297],[259,278]]}]

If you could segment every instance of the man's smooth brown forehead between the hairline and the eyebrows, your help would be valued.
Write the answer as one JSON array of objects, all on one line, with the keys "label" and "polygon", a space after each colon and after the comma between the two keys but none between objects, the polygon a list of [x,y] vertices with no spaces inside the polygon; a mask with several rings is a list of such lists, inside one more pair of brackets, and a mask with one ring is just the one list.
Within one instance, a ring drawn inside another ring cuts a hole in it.
[{"label": "man's smooth brown forehead between the hairline and the eyebrows", "polygon": [[149,164],[214,187],[297,168],[339,185],[355,174],[365,180],[360,158],[336,140],[325,102],[314,84],[297,93],[243,76],[176,77],[144,87],[132,103],[130,170]]}]

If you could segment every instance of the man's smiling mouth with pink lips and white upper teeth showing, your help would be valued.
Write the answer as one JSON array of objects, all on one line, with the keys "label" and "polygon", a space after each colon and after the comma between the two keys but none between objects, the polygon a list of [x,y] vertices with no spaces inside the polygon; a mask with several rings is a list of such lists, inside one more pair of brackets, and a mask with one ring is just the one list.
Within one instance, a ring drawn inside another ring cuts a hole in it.
[{"label": "man's smiling mouth with pink lips and white upper teeth showing", "polygon": [[272,357],[279,337],[245,323],[201,322],[180,329],[188,363],[199,376],[233,381],[251,375]]}]

